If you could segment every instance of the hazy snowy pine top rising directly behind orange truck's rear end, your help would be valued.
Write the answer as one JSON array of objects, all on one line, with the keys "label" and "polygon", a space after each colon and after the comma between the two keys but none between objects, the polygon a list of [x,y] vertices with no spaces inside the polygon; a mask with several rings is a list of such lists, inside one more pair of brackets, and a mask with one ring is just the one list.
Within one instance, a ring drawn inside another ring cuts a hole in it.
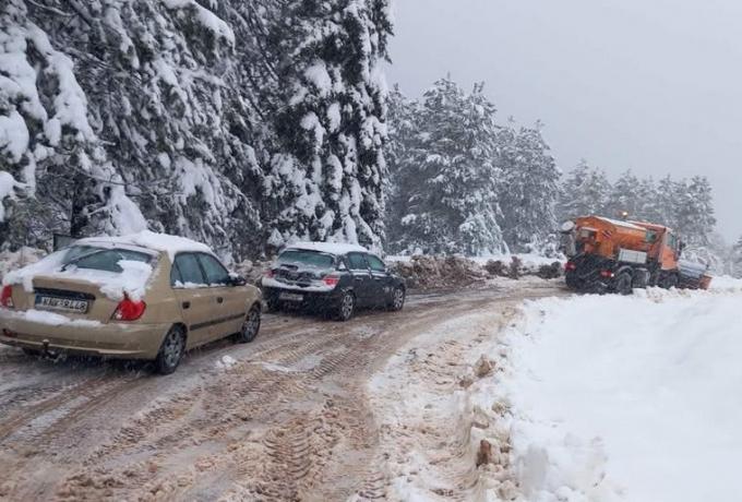
[{"label": "hazy snowy pine top rising directly behind orange truck's rear end", "polygon": [[567,172],[561,186],[556,215],[560,222],[578,216],[607,215],[611,183],[602,169],[581,160]]}]

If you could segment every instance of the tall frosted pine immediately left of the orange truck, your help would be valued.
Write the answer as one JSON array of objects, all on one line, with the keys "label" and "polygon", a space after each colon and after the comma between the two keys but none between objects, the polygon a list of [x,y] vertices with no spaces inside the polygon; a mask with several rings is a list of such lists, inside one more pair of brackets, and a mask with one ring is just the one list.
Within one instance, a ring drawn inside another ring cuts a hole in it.
[{"label": "tall frosted pine immediately left of the orange truck", "polygon": [[498,134],[498,154],[505,242],[514,252],[540,252],[556,229],[554,206],[561,176],[541,124],[516,129],[511,120]]}]

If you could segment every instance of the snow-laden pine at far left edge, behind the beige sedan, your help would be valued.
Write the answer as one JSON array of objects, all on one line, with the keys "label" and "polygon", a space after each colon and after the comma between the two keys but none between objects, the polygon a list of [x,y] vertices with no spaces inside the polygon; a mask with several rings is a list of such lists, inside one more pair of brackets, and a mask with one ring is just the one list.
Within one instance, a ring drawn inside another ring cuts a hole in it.
[{"label": "snow-laden pine at far left edge, behind the beige sedan", "polygon": [[[48,24],[57,32],[49,33]],[[5,244],[38,246],[55,230],[80,236],[145,226],[104,147],[99,117],[88,113],[79,67],[58,48],[67,44],[56,35],[80,34],[81,24],[91,29],[87,19],[37,2],[9,0],[0,7],[0,204],[10,200],[0,212],[0,242]],[[70,44],[70,51],[77,49]],[[94,69],[105,68],[95,52],[88,58]]]}]

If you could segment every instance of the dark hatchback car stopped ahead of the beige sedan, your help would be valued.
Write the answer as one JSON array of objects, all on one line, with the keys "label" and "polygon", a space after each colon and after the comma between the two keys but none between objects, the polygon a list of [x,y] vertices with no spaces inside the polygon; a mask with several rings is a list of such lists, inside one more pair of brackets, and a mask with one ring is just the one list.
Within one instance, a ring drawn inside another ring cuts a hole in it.
[{"label": "dark hatchback car stopped ahead of the beige sedan", "polygon": [[347,321],[359,308],[402,310],[405,280],[366,248],[300,242],[284,249],[262,279],[268,310],[303,308]]}]

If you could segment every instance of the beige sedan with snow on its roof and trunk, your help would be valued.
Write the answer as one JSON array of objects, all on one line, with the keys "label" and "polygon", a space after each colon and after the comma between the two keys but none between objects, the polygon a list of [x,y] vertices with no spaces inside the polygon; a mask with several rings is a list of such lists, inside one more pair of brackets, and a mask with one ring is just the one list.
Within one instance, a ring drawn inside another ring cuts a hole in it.
[{"label": "beige sedan with snow on its roof and trunk", "polygon": [[251,342],[260,322],[258,288],[206,246],[153,232],[79,240],[8,274],[0,294],[0,343],[152,359],[160,373],[208,342]]}]

